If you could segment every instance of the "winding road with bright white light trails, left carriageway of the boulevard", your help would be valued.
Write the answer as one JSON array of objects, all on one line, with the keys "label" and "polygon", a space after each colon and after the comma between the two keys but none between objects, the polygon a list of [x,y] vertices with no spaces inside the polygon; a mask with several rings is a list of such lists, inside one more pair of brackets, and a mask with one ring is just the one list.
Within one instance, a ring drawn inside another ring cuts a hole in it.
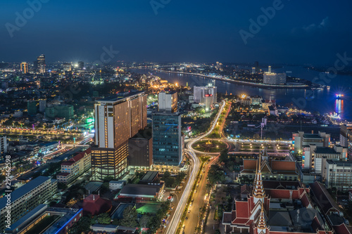
[{"label": "winding road with bright white light trails, left carriageway of the boulevard", "polygon": [[[194,167],[191,170],[191,174],[189,176],[189,180],[187,182],[187,185],[185,186],[186,188],[184,188],[184,193],[182,194],[182,197],[180,198],[180,202],[177,205],[176,209],[175,209],[175,214],[174,216],[172,216],[172,219],[169,223],[169,225],[167,226],[167,230],[165,233],[167,234],[174,234],[177,230],[177,227],[179,226],[180,223],[180,219],[182,216],[182,213],[184,212],[184,207],[186,207],[187,204],[187,200],[189,198],[189,195],[191,194],[191,189],[194,185],[194,181],[196,181],[196,176],[199,172],[199,168],[201,167],[201,161],[199,160],[199,158],[196,156],[196,152],[194,152],[192,145],[194,143],[196,143],[196,141],[201,140],[201,138],[206,137],[208,134],[210,134],[213,129],[215,128],[218,119],[222,113],[222,110],[225,108],[225,102],[222,103],[222,106],[218,112],[218,115],[215,117],[212,126],[210,127],[209,131],[206,132],[206,134],[203,134],[199,137],[193,138],[191,139],[191,141],[189,141],[187,143],[187,154],[189,155],[189,157],[191,158],[191,160],[193,160],[194,162]],[[186,233],[186,232],[185,232]],[[193,232],[191,232],[193,233]]]}]

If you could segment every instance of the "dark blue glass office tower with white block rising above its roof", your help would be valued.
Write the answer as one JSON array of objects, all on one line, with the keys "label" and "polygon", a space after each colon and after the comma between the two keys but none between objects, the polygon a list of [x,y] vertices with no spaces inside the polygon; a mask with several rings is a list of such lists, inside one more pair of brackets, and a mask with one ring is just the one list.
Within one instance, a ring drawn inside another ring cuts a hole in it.
[{"label": "dark blue glass office tower with white block rising above its roof", "polygon": [[[159,93],[160,95],[160,93]],[[174,95],[172,93],[172,95]],[[178,166],[183,160],[183,137],[180,112],[170,112],[172,103],[169,98],[158,100],[163,108],[153,114],[153,162],[158,165]],[[164,108],[165,107],[165,108]]]}]

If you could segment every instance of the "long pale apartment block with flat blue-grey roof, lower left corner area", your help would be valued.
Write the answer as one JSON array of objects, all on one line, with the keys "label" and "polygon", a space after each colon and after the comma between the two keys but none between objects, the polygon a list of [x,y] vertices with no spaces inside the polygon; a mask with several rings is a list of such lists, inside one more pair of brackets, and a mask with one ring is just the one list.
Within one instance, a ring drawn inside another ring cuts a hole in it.
[{"label": "long pale apartment block with flat blue-grey roof, lower left corner area", "polygon": [[[39,204],[48,204],[51,202],[57,190],[57,181],[46,176],[38,176],[24,186],[14,190],[11,193],[11,223],[18,221]],[[1,233],[4,233],[6,225],[7,200],[8,197],[6,196],[0,199]]]}]

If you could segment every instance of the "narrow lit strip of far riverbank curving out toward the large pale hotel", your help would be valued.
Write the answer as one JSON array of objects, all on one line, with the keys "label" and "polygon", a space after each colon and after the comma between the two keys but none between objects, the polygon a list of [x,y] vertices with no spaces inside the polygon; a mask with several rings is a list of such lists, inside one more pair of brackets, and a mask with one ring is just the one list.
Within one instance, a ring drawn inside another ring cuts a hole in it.
[{"label": "narrow lit strip of far riverbank curving out toward the large pale hotel", "polygon": [[262,83],[253,83],[253,82],[242,82],[239,80],[234,80],[234,79],[226,79],[226,78],[221,78],[221,77],[211,77],[207,76],[205,74],[196,74],[196,73],[189,73],[189,72],[172,72],[172,71],[165,71],[165,70],[156,70],[158,72],[165,72],[165,73],[175,73],[175,74],[189,74],[193,75],[196,77],[204,77],[204,78],[209,78],[209,79],[218,79],[222,82],[229,82],[232,84],[241,84],[241,85],[246,85],[246,86],[254,86],[258,88],[263,88],[263,89],[310,89],[310,86],[306,84],[297,84],[297,85],[287,85],[287,84],[262,84]]}]

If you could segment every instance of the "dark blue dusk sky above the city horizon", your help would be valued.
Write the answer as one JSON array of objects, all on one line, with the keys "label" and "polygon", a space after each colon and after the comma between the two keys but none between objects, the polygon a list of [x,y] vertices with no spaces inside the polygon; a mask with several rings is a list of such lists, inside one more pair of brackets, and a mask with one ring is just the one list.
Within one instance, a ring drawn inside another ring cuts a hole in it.
[{"label": "dark blue dusk sky above the city horizon", "polygon": [[[44,53],[49,62],[87,62],[99,60],[103,46],[120,51],[114,60],[332,64],[336,53],[352,57],[350,0],[282,0],[247,44],[239,30],[249,32],[249,19],[275,1],[171,0],[157,15],[150,0],[45,1],[18,27],[15,13],[23,15],[27,1],[0,0],[0,60]],[[13,37],[9,24],[18,27]]]}]

